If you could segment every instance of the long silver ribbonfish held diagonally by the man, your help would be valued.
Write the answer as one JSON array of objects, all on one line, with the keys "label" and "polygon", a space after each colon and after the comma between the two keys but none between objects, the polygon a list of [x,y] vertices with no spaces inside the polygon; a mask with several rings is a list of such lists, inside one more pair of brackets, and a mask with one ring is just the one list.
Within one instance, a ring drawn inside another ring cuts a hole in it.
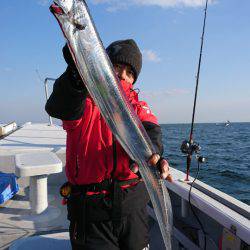
[{"label": "long silver ribbonfish held diagonally by the man", "polygon": [[132,160],[138,163],[166,249],[171,249],[172,208],[165,181],[148,166],[154,146],[116,78],[87,4],[55,0],[50,7],[67,40],[81,78],[100,112]]}]

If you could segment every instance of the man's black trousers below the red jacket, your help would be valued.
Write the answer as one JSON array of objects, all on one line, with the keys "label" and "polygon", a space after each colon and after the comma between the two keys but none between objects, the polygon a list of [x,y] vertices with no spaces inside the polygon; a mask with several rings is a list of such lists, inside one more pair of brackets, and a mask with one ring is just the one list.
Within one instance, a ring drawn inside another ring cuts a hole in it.
[{"label": "man's black trousers below the red jacket", "polygon": [[71,196],[67,206],[72,249],[148,249],[148,196],[143,185],[122,191],[118,206],[102,195]]}]

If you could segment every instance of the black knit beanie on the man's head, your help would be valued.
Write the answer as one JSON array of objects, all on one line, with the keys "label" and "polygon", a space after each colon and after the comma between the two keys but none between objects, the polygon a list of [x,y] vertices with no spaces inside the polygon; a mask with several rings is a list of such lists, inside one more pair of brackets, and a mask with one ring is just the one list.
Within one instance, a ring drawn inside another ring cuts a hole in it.
[{"label": "black knit beanie on the man's head", "polygon": [[122,63],[131,66],[136,82],[142,67],[142,54],[136,42],[132,39],[115,41],[106,51],[113,64]]}]

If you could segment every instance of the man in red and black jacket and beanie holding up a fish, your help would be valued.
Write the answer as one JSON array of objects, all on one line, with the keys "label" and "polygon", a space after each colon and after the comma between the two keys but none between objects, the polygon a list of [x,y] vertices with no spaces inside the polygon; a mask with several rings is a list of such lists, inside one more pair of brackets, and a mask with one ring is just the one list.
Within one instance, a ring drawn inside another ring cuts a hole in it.
[{"label": "man in red and black jacket and beanie holding up a fish", "polygon": [[[138,165],[116,141],[75,67],[67,45],[63,48],[68,67],[46,103],[46,111],[63,121],[67,132],[66,175],[71,194],[67,197],[72,249],[148,249],[149,201]],[[110,44],[107,54],[129,101],[142,121],[158,154],[149,164],[172,180],[163,153],[161,128],[146,102],[133,90],[142,66],[134,40]]]}]

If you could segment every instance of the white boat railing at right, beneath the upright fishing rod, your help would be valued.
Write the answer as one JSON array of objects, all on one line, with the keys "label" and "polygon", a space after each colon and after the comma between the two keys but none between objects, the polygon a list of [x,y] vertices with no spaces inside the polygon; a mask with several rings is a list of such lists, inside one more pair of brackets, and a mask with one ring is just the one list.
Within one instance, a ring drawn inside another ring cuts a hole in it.
[{"label": "white boat railing at right, beneath the upright fishing rod", "polygon": [[[172,191],[180,197],[182,218],[189,217],[190,183],[184,181],[185,174],[181,171],[171,168],[171,172],[176,179],[173,183],[166,182],[166,186],[169,191]],[[191,181],[192,180],[193,178],[191,178]],[[223,228],[233,230],[234,235],[247,244],[250,244],[250,207],[247,204],[198,180],[196,180],[196,183],[193,185],[190,203],[200,210],[205,217],[207,215]]]}]

